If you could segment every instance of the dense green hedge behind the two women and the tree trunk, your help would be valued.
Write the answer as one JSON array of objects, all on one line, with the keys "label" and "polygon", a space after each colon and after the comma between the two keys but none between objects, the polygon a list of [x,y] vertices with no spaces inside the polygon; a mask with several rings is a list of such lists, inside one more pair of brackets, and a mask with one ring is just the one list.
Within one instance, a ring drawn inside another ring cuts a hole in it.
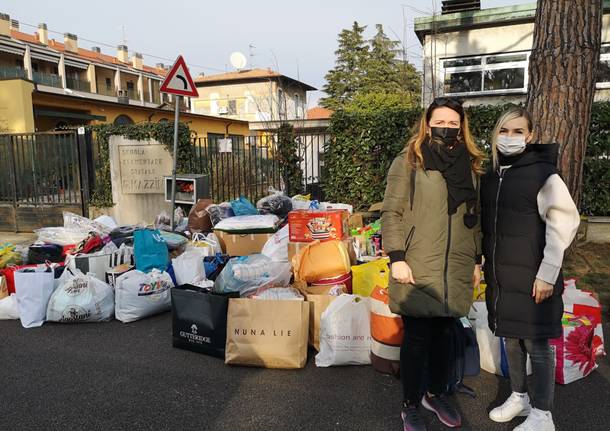
[{"label": "dense green hedge behind the two women and the tree trunk", "polygon": [[[473,106],[466,112],[477,143],[489,154],[499,116],[512,104]],[[367,208],[383,199],[394,157],[404,148],[421,109],[397,95],[359,95],[336,111],[330,124],[333,140],[325,149],[324,188],[328,200]],[[581,211],[610,215],[610,102],[593,105],[591,134],[583,173]]]}]

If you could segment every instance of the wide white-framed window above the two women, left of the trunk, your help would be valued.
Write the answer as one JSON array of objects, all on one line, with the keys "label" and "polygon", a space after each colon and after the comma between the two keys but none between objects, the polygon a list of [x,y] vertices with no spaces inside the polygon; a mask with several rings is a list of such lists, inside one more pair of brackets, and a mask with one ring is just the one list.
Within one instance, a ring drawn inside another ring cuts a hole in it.
[{"label": "wide white-framed window above the two women, left of the trunk", "polygon": [[529,53],[494,54],[443,61],[447,95],[523,93]]}]

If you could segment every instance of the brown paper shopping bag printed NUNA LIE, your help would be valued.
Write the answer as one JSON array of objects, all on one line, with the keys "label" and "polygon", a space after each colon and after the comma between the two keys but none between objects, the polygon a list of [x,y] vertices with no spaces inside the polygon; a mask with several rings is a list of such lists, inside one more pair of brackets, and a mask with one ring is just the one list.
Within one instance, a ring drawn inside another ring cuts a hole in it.
[{"label": "brown paper shopping bag printed NUNA LIE", "polygon": [[303,368],[309,305],[305,301],[230,299],[225,363]]}]

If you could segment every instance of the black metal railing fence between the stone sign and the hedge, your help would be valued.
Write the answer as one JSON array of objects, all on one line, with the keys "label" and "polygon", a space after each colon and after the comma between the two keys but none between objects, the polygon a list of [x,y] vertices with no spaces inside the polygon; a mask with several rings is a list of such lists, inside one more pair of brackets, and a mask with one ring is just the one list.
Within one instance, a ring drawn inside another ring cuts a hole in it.
[{"label": "black metal railing fence between the stone sign and the hedge", "polygon": [[[298,134],[298,155],[303,172],[302,190],[320,198],[324,181],[324,145],[328,134]],[[282,189],[277,159],[277,135],[195,138],[193,173],[207,173],[215,202],[245,196],[255,202],[270,188]]]}]

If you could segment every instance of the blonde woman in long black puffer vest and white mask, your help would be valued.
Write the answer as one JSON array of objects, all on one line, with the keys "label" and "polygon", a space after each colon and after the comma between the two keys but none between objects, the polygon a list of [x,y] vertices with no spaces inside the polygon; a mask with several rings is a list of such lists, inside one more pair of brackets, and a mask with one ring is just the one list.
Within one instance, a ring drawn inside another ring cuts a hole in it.
[{"label": "blonde woman in long black puffer vest and white mask", "polygon": [[[562,335],[561,265],[580,222],[557,174],[557,144],[533,142],[530,114],[515,108],[493,134],[493,167],[481,179],[481,224],[489,327],[506,338],[513,393],[489,416],[528,416],[519,431],[553,431],[555,357]],[[533,379],[528,396],[526,358]],[[532,408],[533,407],[533,408]]]}]

